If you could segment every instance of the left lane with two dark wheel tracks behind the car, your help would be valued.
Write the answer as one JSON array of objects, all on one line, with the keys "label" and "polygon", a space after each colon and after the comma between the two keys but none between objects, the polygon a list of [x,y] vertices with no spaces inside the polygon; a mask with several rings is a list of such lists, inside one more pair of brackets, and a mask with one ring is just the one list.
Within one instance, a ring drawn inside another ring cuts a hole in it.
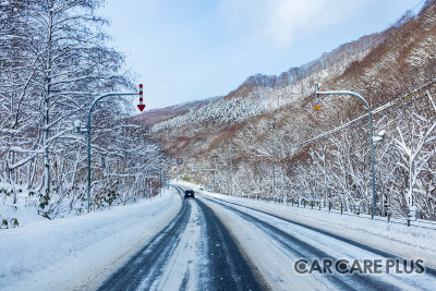
[{"label": "left lane with two dark wheel tracks behind the car", "polygon": [[261,290],[214,211],[185,199],[171,223],[99,290]]}]

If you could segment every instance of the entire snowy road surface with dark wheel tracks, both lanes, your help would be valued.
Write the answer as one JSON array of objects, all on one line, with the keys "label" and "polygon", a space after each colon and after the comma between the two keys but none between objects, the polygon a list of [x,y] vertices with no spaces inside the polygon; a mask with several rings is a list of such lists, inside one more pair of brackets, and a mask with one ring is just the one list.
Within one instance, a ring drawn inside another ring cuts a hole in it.
[{"label": "entire snowy road surface with dark wheel tracks, both lanes", "polygon": [[361,266],[378,259],[384,269],[387,260],[399,257],[249,207],[197,196],[184,201],[175,219],[100,290],[434,290],[436,283],[434,268],[404,274],[402,264],[389,274],[301,275],[295,270],[301,258],[346,259],[348,268],[354,259]]}]

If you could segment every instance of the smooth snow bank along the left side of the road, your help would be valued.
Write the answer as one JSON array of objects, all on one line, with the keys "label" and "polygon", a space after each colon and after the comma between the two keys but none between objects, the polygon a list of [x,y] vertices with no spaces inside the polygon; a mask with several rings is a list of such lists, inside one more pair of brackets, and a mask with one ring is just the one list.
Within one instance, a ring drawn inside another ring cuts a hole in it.
[{"label": "smooth snow bank along the left side of the road", "polygon": [[175,193],[170,190],[133,205],[2,231],[0,289],[98,287],[175,216],[181,207]]}]

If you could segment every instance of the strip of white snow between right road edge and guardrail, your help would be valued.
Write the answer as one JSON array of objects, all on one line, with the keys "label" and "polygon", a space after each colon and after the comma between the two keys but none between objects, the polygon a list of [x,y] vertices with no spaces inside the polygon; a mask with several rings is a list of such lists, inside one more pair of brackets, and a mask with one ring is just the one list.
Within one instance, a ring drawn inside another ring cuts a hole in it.
[{"label": "strip of white snow between right road edge and guardrail", "polygon": [[[223,199],[238,205],[258,209],[295,222],[318,228],[343,238],[384,250],[408,258],[422,258],[428,266],[436,267],[436,230],[434,225],[415,222],[408,227],[404,221],[387,222],[371,219],[366,215],[340,215],[338,211],[295,207],[274,202],[234,197],[198,190],[198,186],[178,182],[192,187],[205,196]],[[416,226],[417,225],[417,226]]]}]

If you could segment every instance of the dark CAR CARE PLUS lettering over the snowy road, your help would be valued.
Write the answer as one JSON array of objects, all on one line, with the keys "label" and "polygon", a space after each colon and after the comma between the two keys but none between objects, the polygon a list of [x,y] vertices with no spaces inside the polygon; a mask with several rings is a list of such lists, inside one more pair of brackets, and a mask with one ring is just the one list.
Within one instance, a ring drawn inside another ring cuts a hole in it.
[{"label": "dark CAR CARE PLUS lettering over the snowy road", "polygon": [[373,258],[373,259],[307,259],[300,258],[293,265],[301,275],[382,275],[382,274],[423,274],[424,260],[404,258]]}]

